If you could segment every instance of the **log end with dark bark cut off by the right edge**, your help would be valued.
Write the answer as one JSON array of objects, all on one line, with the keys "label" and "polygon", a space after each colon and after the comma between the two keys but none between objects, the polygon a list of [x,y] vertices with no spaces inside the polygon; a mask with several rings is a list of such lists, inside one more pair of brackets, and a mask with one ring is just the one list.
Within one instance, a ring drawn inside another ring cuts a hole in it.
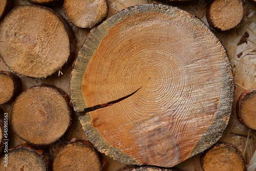
[{"label": "log end with dark bark cut off by the right edge", "polygon": [[247,90],[237,102],[237,118],[252,130],[256,130],[256,90]]}]

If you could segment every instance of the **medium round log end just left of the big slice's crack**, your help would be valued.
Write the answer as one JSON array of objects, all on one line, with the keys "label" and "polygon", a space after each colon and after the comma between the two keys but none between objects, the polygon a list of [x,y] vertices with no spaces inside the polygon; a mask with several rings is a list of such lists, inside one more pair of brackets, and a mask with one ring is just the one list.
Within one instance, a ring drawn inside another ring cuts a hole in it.
[{"label": "medium round log end just left of the big slice's crack", "polygon": [[10,123],[23,140],[45,145],[57,141],[66,132],[70,115],[64,94],[56,88],[39,86],[29,88],[16,98]]}]

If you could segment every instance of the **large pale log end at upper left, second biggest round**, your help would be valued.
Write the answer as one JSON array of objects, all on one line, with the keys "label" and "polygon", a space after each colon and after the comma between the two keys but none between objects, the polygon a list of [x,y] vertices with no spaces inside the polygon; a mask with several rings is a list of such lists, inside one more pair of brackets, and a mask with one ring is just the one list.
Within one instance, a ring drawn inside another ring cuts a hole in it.
[{"label": "large pale log end at upper left, second biggest round", "polygon": [[23,76],[50,76],[70,55],[65,25],[52,10],[41,6],[13,9],[0,25],[0,40],[0,56]]}]

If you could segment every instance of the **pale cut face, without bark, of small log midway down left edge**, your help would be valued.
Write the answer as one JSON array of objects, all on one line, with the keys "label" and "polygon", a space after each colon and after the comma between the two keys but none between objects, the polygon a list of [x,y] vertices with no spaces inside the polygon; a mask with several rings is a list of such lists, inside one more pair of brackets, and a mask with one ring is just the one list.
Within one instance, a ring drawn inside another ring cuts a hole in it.
[{"label": "pale cut face, without bark, of small log midway down left edge", "polygon": [[8,102],[14,93],[14,81],[5,74],[0,73],[0,104]]}]

